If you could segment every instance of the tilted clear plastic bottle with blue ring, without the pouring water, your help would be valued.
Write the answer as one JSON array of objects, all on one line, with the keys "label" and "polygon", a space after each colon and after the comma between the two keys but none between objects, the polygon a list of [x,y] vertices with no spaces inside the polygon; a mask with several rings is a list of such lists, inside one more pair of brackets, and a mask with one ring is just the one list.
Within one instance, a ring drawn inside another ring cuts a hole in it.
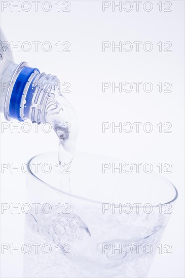
[{"label": "tilted clear plastic bottle with blue ring, without the pouring water", "polygon": [[46,122],[48,97],[52,91],[59,90],[59,80],[54,75],[28,67],[26,62],[15,64],[2,30],[0,43],[1,112],[9,121],[30,119],[33,123]]}]

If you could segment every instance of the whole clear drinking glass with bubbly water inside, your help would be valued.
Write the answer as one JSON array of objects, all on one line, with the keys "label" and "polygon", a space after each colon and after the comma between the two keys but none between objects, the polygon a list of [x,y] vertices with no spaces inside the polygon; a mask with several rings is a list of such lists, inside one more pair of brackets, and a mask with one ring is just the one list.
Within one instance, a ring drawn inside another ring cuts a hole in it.
[{"label": "whole clear drinking glass with bubbly water inside", "polygon": [[93,154],[71,166],[57,153],[30,159],[24,276],[146,277],[177,190],[135,166]]}]

